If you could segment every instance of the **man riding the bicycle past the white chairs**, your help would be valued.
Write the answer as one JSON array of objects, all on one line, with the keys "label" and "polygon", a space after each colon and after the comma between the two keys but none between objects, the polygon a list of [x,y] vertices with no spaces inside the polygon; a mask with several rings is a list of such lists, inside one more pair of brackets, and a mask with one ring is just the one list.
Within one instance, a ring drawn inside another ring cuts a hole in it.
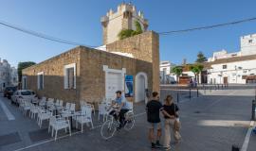
[{"label": "man riding the bicycle past the white chairs", "polygon": [[110,115],[113,115],[115,117],[116,120],[118,120],[119,118],[119,127],[118,129],[120,129],[121,127],[123,127],[124,124],[124,114],[129,111],[127,104],[126,104],[126,99],[124,96],[121,95],[121,92],[118,91],[116,92],[117,97],[116,99],[112,102],[112,105],[110,107],[110,109],[113,109],[112,111],[110,111]]}]

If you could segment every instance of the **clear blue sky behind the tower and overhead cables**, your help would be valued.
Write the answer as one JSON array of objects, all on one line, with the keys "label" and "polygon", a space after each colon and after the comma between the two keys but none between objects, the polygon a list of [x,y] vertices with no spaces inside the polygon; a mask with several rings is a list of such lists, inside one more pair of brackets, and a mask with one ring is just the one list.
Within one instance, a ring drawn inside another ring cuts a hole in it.
[{"label": "clear blue sky behind the tower and overhead cables", "polygon": [[[0,0],[0,21],[65,40],[102,44],[101,16],[122,0]],[[127,1],[130,2],[130,1]],[[256,17],[253,0],[133,0],[156,32],[227,23]],[[198,51],[239,50],[240,36],[256,33],[256,21],[210,30],[160,36],[160,59],[181,63],[196,59]],[[50,42],[0,25],[0,58],[40,62],[73,45]]]}]

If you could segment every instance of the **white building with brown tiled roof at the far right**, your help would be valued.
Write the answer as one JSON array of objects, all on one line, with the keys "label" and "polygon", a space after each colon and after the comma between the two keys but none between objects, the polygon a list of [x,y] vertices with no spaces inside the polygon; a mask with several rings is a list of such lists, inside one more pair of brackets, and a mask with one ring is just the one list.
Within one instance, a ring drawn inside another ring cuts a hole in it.
[{"label": "white building with brown tiled roof at the far right", "polygon": [[256,34],[243,36],[241,51],[227,53],[214,52],[209,59],[208,83],[246,84],[256,82]]}]

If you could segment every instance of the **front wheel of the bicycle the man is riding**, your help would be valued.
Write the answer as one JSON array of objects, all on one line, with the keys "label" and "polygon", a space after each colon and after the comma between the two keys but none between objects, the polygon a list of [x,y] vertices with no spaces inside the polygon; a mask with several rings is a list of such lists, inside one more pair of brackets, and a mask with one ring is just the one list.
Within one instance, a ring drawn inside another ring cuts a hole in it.
[{"label": "front wheel of the bicycle the man is riding", "polygon": [[104,140],[108,140],[114,136],[116,130],[117,130],[117,127],[114,125],[113,120],[107,120],[101,126],[101,137]]}]

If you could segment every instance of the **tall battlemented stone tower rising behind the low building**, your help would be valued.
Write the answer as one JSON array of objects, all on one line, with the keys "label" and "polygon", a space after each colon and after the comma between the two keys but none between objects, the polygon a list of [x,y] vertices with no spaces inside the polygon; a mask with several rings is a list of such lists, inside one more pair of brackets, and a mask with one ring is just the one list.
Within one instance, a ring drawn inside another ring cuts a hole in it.
[{"label": "tall battlemented stone tower rising behind the low building", "polygon": [[120,4],[117,12],[110,9],[106,16],[101,17],[103,44],[118,41],[118,35],[122,29],[136,30],[136,21],[140,23],[142,31],[147,30],[148,20],[144,19],[143,13],[137,12],[136,7],[132,4]]}]

